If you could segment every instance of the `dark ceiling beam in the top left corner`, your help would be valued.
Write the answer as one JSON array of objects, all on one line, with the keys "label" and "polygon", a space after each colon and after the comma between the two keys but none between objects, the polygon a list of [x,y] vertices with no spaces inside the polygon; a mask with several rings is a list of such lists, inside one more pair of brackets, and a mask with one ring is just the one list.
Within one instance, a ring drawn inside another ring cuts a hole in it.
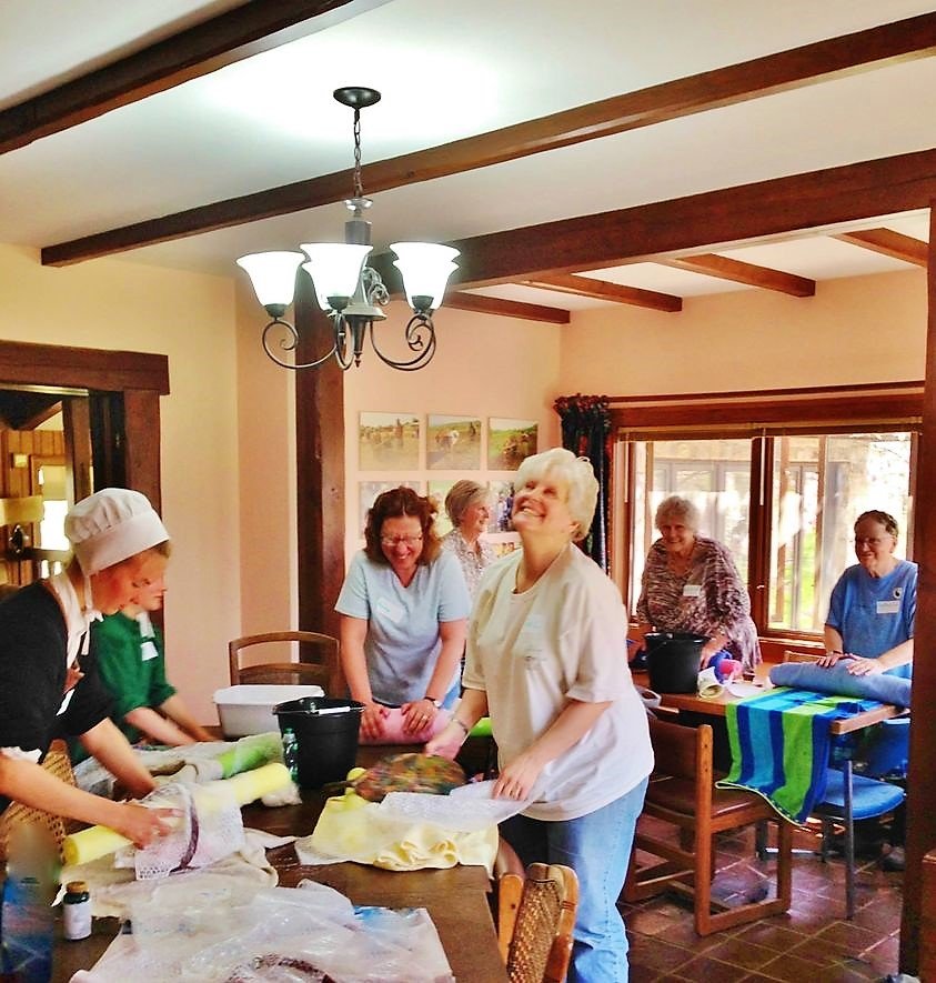
[{"label": "dark ceiling beam in the top left corner", "polygon": [[[352,0],[243,3],[111,64],[0,111],[0,153],[26,147],[112,109],[278,48],[334,23],[319,20]],[[374,7],[356,0],[346,16]]]}]

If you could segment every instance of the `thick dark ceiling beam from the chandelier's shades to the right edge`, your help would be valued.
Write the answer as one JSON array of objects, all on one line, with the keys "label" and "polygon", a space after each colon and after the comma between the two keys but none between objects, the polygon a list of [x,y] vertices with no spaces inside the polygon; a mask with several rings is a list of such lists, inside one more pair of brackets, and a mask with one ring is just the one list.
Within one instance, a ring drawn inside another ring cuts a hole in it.
[{"label": "thick dark ceiling beam from the chandelier's shades to the right edge", "polygon": [[452,285],[489,287],[726,248],[745,240],[928,208],[936,150],[741,184],[449,243]]}]

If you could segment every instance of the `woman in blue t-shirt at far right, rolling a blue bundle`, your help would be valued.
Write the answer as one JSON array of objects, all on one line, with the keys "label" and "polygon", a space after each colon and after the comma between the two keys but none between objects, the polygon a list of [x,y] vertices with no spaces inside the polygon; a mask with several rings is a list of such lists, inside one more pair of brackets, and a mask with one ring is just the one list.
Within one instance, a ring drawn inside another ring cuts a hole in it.
[{"label": "woman in blue t-shirt at far right, rolling a blue bundle", "polygon": [[846,660],[853,675],[913,674],[917,565],[894,555],[897,521],[872,509],[855,522],[855,555],[832,590],[819,665]]}]

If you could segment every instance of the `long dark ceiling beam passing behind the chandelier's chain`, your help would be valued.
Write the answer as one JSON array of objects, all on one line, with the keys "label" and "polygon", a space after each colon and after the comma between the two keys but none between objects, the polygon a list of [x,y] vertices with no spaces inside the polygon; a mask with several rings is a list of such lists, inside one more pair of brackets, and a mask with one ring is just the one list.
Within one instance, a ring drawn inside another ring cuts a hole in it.
[{"label": "long dark ceiling beam passing behind the chandelier's chain", "polygon": [[[373,194],[924,58],[935,51],[936,13],[920,14],[366,164],[363,183]],[[46,247],[42,262],[64,265],[290,214],[340,201],[351,187],[350,170],[298,181]]]}]

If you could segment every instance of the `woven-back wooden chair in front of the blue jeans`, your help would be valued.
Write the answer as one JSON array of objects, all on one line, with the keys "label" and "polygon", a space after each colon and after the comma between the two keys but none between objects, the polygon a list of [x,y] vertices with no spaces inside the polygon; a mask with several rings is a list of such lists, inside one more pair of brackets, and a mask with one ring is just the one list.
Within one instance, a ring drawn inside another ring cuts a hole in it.
[{"label": "woven-back wooden chair in front of the blue jeans", "polygon": [[497,881],[497,941],[511,983],[562,983],[572,959],[578,879],[572,867],[532,863]]}]

